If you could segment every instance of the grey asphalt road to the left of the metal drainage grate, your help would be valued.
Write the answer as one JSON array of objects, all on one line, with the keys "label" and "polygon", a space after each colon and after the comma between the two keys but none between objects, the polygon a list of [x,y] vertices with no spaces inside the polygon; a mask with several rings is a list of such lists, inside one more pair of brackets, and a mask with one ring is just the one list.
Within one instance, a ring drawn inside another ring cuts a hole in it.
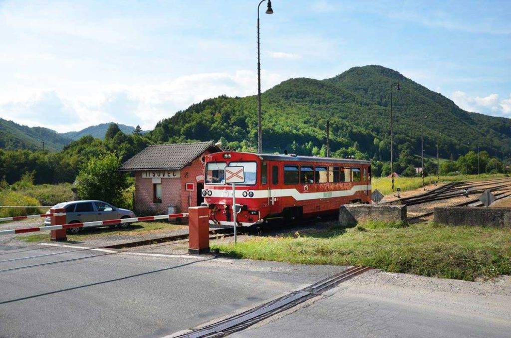
[{"label": "grey asphalt road to the left of the metal drainage grate", "polygon": [[103,251],[12,260],[73,250],[0,250],[0,336],[162,336],[342,269]]}]

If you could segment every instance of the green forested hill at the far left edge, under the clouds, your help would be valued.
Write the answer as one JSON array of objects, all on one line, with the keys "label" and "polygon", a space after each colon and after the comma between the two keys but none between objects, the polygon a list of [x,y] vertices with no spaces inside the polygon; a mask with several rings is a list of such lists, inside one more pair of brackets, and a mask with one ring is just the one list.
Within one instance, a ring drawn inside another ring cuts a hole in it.
[{"label": "green forested hill at the far left edge, under the clouds", "polygon": [[42,127],[27,127],[0,118],[0,149],[44,149],[58,151],[71,142],[56,131]]}]

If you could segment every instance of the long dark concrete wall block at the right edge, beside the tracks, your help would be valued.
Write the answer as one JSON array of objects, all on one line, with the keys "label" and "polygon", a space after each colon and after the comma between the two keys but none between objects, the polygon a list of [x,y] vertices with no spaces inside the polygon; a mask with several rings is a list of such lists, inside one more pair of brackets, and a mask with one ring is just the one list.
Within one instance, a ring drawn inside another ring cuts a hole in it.
[{"label": "long dark concrete wall block at the right edge, beside the tracks", "polygon": [[445,225],[490,226],[511,228],[511,209],[486,207],[437,207],[433,211],[436,223]]}]

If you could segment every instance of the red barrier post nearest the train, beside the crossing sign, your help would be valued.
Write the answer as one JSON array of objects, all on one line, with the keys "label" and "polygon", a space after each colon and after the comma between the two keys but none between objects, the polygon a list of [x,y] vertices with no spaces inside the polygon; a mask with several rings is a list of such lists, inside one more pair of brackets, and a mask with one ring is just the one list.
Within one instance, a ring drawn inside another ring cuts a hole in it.
[{"label": "red barrier post nearest the train, beside the crossing sign", "polygon": [[207,207],[188,208],[188,228],[191,254],[210,252],[210,224]]}]

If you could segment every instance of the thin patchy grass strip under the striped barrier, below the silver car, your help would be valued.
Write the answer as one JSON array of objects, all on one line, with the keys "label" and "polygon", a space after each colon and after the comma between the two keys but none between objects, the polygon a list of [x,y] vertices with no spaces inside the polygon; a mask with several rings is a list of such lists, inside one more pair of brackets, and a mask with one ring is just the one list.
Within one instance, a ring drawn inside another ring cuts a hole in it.
[{"label": "thin patchy grass strip under the striped barrier, below the silver car", "polygon": [[[169,224],[166,222],[138,222],[134,223],[128,229],[111,227],[84,229],[82,232],[76,235],[67,234],[67,241],[85,242],[89,239],[107,236],[142,236],[148,234],[165,233],[181,228],[181,225]],[[16,236],[16,239],[22,240],[26,243],[48,242],[50,240],[50,233]]]}]

